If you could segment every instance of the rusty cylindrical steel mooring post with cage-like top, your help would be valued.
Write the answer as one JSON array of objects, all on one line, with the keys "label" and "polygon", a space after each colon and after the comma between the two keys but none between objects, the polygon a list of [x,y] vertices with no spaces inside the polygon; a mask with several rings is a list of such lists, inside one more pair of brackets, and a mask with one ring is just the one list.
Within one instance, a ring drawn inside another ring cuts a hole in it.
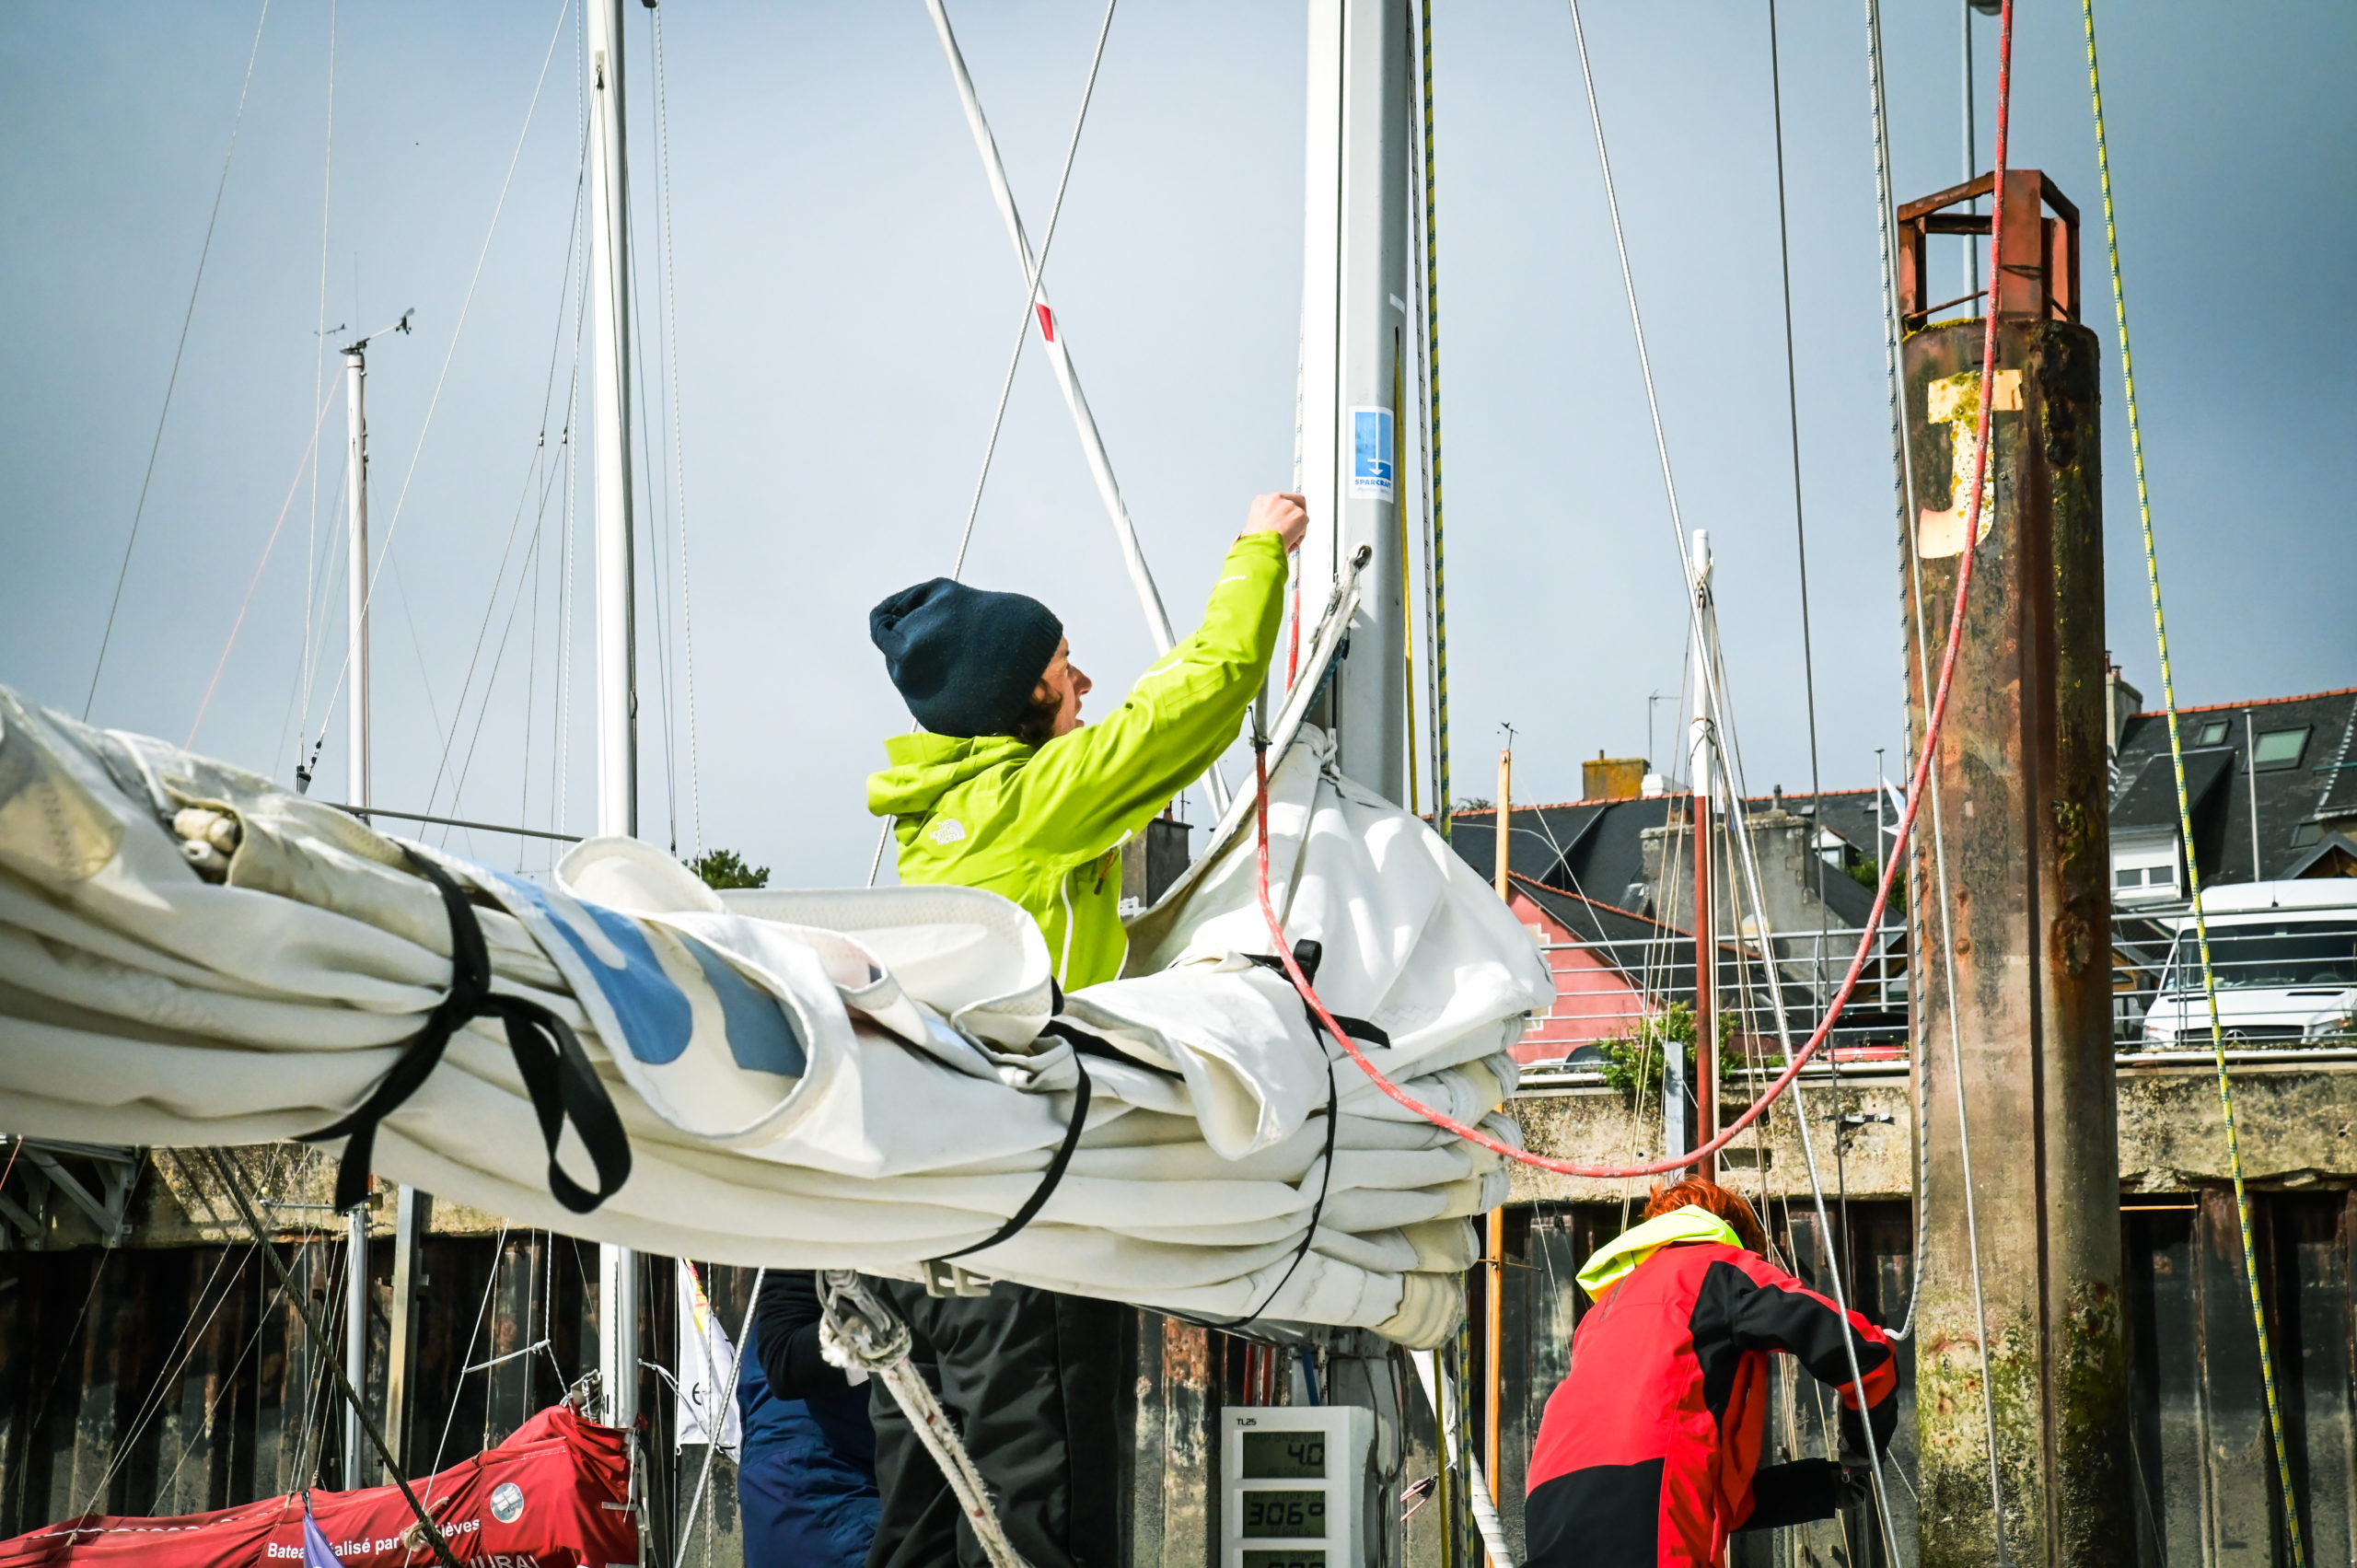
[{"label": "rusty cylindrical steel mooring post with cage-like top", "polygon": [[2008,172],[2003,269],[1992,274],[1994,486],[1968,540],[1985,323],[1928,321],[1942,307],[1923,302],[1921,257],[1933,233],[1975,233],[1975,222],[1987,233],[1987,217],[1952,207],[1989,184],[1897,215],[1902,285],[1914,283],[1902,288],[1902,368],[1921,611],[1904,561],[1902,597],[1916,736],[1928,717],[1919,672],[1937,679],[1956,568],[1966,549],[1980,552],[1933,764],[1954,993],[1930,811],[1909,865],[1921,891],[1914,1070],[1928,1106],[1921,1561],[2126,1568],[2135,1526],[2107,960],[2100,349],[2077,321],[2077,210],[2036,170]]}]

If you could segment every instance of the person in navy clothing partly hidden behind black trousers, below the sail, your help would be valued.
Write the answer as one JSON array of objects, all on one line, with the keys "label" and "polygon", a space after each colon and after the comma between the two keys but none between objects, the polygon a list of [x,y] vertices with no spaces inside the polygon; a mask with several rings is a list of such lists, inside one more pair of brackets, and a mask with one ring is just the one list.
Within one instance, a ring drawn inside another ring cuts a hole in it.
[{"label": "person in navy clothing partly hidden behind black trousers, below the sail", "polygon": [[738,1358],[745,1568],[860,1568],[877,1533],[867,1389],[818,1353],[818,1276],[771,1269]]}]

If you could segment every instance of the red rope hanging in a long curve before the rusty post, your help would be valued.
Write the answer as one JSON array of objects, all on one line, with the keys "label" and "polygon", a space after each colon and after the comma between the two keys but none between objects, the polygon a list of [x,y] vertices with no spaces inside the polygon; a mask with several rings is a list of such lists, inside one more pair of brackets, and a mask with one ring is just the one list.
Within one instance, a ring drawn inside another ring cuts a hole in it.
[{"label": "red rope hanging in a long curve before the rusty post", "polygon": [[[1996,189],[1989,200],[1992,278],[2003,278],[2006,111],[2011,106],[2011,99],[2013,99],[2013,0],[2003,0],[2003,17],[1996,28]],[[1777,1080],[1768,1085],[1768,1092],[1761,1094],[1756,1101],[1751,1101],[1751,1106],[1739,1118],[1735,1118],[1716,1139],[1711,1139],[1702,1148],[1695,1148],[1683,1155],[1669,1155],[1664,1160],[1655,1160],[1652,1165],[1574,1165],[1572,1160],[1551,1160],[1546,1155],[1534,1155],[1527,1148],[1513,1148],[1508,1144],[1501,1144],[1499,1139],[1492,1139],[1487,1132],[1480,1132],[1475,1127],[1459,1122],[1452,1115],[1433,1111],[1431,1106],[1417,1101],[1405,1089],[1400,1089],[1400,1085],[1384,1078],[1381,1068],[1367,1061],[1367,1054],[1358,1049],[1358,1042],[1351,1040],[1351,1035],[1341,1028],[1341,1023],[1334,1021],[1334,1014],[1327,1012],[1327,1004],[1318,1000],[1318,990],[1310,986],[1308,976],[1301,974],[1301,964],[1294,962],[1294,950],[1285,941],[1285,922],[1277,920],[1277,908],[1268,898],[1268,747],[1263,743],[1261,747],[1254,750],[1252,766],[1259,783],[1256,818],[1259,818],[1261,917],[1268,922],[1268,938],[1277,946],[1277,960],[1285,964],[1285,974],[1287,979],[1292,979],[1294,990],[1301,993],[1301,1000],[1308,1002],[1310,1012],[1318,1014],[1318,1021],[1325,1026],[1325,1030],[1341,1045],[1343,1052],[1348,1052],[1351,1061],[1355,1061],[1358,1068],[1374,1080],[1376,1089],[1388,1094],[1395,1103],[1414,1111],[1433,1127],[1454,1132],[1468,1144],[1478,1144],[1480,1148],[1487,1148],[1494,1155],[1504,1155],[1520,1165],[1534,1165],[1537,1170],[1551,1170],[1558,1177],[1622,1179],[1622,1177],[1662,1177],[1716,1155],[1721,1148],[1732,1144],[1744,1127],[1756,1122],[1784,1089],[1791,1087],[1791,1082],[1801,1075],[1801,1068],[1808,1066],[1810,1056],[1815,1056],[1824,1047],[1827,1035],[1834,1033],[1834,1023],[1841,1021],[1841,1009],[1848,1007],[1850,1002],[1850,993],[1857,990],[1857,976],[1864,974],[1867,955],[1874,948],[1874,936],[1876,931],[1881,931],[1883,924],[1883,908],[1890,903],[1890,879],[1897,875],[1900,868],[1900,849],[1909,844],[1914,835],[1916,811],[1921,809],[1926,797],[1930,762],[1940,745],[1940,729],[1947,722],[1947,693],[1949,686],[1954,686],[1956,681],[1956,648],[1963,646],[1963,606],[1973,589],[1973,561],[1980,556],[1980,490],[1982,483],[1987,481],[1987,469],[1989,469],[1989,391],[1994,384],[1994,375],[1996,375],[1996,299],[1992,285],[1987,325],[1982,328],[1982,342],[1980,342],[1980,429],[1978,429],[1980,443],[1978,450],[1973,453],[1973,505],[1970,512],[1966,512],[1963,521],[1963,559],[1956,566],[1956,608],[1947,620],[1947,651],[1940,655],[1940,686],[1937,693],[1933,696],[1930,724],[1926,724],[1923,729],[1923,747],[1916,755],[1914,776],[1907,780],[1907,809],[1900,813],[1897,842],[1890,846],[1890,856],[1883,861],[1883,877],[1874,889],[1874,910],[1867,915],[1867,929],[1857,938],[1857,953],[1850,957],[1848,974],[1841,976],[1841,990],[1834,993],[1834,1004],[1827,1009],[1824,1021],[1808,1037],[1808,1045],[1794,1052],[1784,1070],[1777,1073]],[[1907,502],[1914,505],[1914,498],[1909,495]]]}]

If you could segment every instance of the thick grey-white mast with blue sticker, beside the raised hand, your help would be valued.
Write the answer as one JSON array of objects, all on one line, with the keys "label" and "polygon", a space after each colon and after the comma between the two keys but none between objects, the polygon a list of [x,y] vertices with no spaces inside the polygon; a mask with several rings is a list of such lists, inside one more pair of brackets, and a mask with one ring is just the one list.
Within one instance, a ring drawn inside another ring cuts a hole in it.
[{"label": "thick grey-white mast with blue sticker, beside the raised hand", "polygon": [[1301,271],[1301,611],[1362,545],[1348,658],[1322,705],[1341,769],[1407,799],[1407,604],[1393,389],[1409,309],[1414,17],[1407,0],[1310,0],[1308,174]]}]

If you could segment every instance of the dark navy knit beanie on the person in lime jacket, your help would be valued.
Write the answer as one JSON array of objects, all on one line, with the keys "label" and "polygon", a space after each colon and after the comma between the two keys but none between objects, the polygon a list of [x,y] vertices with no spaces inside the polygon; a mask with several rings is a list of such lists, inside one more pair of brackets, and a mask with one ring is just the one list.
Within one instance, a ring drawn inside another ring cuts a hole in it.
[{"label": "dark navy knit beanie on the person in lime jacket", "polygon": [[917,724],[936,736],[1002,736],[1030,707],[1063,622],[1025,594],[933,578],[867,611],[867,639]]}]

